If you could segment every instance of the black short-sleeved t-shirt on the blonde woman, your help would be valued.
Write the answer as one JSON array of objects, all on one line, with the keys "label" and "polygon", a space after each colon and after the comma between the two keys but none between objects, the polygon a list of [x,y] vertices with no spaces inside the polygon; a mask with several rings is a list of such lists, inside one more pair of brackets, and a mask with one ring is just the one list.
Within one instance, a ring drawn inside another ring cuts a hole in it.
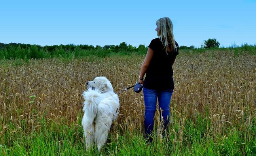
[{"label": "black short-sleeved t-shirt on the blonde woman", "polygon": [[146,71],[144,87],[154,90],[173,89],[173,68],[171,61],[179,54],[178,43],[175,41],[176,51],[165,52],[165,47],[159,38],[152,39],[150,47],[154,54]]}]

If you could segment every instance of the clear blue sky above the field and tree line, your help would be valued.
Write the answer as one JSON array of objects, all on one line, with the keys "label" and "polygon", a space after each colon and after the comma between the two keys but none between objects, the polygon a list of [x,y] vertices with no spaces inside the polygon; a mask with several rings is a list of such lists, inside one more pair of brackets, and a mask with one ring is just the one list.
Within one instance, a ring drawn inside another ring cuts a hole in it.
[{"label": "clear blue sky above the field and tree line", "polygon": [[138,47],[157,38],[155,21],[169,17],[179,45],[256,44],[256,0],[4,0],[0,42]]}]

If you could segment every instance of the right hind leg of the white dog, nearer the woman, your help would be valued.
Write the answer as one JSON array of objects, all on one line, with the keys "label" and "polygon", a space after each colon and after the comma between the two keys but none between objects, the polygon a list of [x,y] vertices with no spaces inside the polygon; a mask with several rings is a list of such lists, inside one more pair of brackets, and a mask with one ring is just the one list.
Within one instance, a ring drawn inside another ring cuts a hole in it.
[{"label": "right hind leg of the white dog, nearer the woman", "polygon": [[95,121],[95,139],[99,151],[101,151],[102,146],[107,140],[111,123],[112,118],[108,116],[97,117],[97,120]]}]

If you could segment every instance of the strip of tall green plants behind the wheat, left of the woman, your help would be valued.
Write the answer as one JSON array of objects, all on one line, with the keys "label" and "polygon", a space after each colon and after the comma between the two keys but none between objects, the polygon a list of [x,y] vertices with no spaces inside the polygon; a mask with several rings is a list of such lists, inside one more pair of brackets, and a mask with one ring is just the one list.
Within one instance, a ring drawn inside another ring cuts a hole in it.
[{"label": "strip of tall green plants behind the wheat, left of the woman", "polygon": [[47,49],[40,48],[36,45],[31,45],[30,47],[22,48],[20,46],[14,47],[10,46],[4,49],[0,49],[0,60],[28,60],[28,59],[39,59],[39,58],[83,58],[87,56],[97,56],[97,57],[109,57],[113,55],[134,55],[134,54],[146,54],[146,51],[108,51],[104,49],[81,49],[80,47],[75,47],[74,50],[65,50],[63,48],[55,48],[53,51],[47,51]]}]

